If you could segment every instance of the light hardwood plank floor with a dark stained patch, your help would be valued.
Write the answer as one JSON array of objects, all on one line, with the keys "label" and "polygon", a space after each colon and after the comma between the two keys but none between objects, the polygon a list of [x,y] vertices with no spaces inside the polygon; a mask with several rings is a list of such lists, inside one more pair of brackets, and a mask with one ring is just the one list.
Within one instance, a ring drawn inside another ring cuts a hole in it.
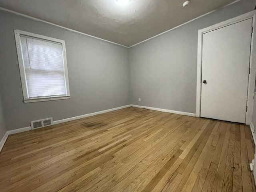
[{"label": "light hardwood plank floor with a dark stained patch", "polygon": [[1,192],[256,191],[248,126],[125,108],[8,137]]}]

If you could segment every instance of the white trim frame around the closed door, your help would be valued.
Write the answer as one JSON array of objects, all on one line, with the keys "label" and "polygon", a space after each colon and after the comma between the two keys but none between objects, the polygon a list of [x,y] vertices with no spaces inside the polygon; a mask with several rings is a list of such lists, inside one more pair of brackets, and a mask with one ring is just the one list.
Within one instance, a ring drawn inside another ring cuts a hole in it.
[{"label": "white trim frame around the closed door", "polygon": [[248,80],[248,92],[247,92],[247,112],[246,112],[246,125],[252,122],[253,111],[253,96],[255,90],[256,79],[256,10],[248,12],[246,14],[237,16],[235,18],[220,22],[210,27],[198,30],[198,52],[197,52],[197,78],[196,78],[196,117],[201,117],[201,86],[202,86],[202,43],[203,34],[237,23],[246,19],[252,18],[252,40],[251,40],[251,52],[250,52],[250,74]]}]

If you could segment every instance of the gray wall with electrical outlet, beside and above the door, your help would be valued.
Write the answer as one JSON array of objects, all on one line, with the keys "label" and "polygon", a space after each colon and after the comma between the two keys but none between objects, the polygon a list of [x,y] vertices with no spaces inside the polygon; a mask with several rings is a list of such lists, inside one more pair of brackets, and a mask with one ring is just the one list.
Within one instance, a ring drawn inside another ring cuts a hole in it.
[{"label": "gray wall with electrical outlet, beside and above the door", "polygon": [[130,48],[131,103],[196,113],[198,30],[254,7],[255,0],[242,0]]}]

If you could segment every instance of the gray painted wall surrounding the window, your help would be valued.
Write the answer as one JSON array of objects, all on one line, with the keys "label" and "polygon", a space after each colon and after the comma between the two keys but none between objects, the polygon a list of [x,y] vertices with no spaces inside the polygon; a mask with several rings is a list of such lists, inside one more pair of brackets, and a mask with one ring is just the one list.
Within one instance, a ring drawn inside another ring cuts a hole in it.
[{"label": "gray painted wall surrounding the window", "polygon": [[[14,28],[65,40],[71,99],[24,104]],[[0,94],[8,130],[130,104],[128,70],[127,48],[0,11]]]}]

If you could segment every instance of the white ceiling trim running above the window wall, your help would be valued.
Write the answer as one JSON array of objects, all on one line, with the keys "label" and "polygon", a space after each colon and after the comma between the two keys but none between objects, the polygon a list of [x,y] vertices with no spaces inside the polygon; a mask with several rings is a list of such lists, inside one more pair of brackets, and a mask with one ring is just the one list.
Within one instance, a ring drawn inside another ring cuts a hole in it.
[{"label": "white ceiling trim running above the window wall", "polygon": [[5,8],[0,7],[0,10],[6,11],[6,12],[10,12],[10,13],[22,16],[22,17],[26,17],[26,18],[32,19],[32,20],[36,20],[36,21],[39,21],[39,22],[43,22],[43,23],[46,23],[46,24],[49,24],[49,25],[53,25],[55,27],[62,28],[62,29],[65,29],[65,30],[68,30],[68,31],[71,31],[71,32],[74,32],[74,33],[77,33],[77,34],[80,34],[80,35],[88,36],[88,37],[91,37],[91,38],[102,40],[104,42],[108,42],[108,43],[111,43],[111,44],[114,44],[114,45],[119,45],[119,46],[128,48],[127,46],[124,46],[124,45],[121,45],[121,44],[118,44],[118,43],[115,43],[115,42],[112,42],[112,41],[108,41],[108,40],[105,40],[105,39],[102,39],[102,38],[98,38],[98,37],[95,37],[95,36],[92,36],[92,35],[89,35],[89,34],[86,34],[86,33],[82,33],[82,32],[70,29],[70,28],[66,28],[66,27],[63,27],[63,26],[60,26],[60,25],[56,25],[54,23],[51,23],[51,22],[48,22],[48,21],[44,21],[44,20],[41,20],[41,19],[38,19],[38,18],[34,18],[34,17],[28,16],[28,15],[25,15],[25,14],[22,14],[22,13],[18,13],[18,12],[9,10],[9,9],[5,9]]}]

